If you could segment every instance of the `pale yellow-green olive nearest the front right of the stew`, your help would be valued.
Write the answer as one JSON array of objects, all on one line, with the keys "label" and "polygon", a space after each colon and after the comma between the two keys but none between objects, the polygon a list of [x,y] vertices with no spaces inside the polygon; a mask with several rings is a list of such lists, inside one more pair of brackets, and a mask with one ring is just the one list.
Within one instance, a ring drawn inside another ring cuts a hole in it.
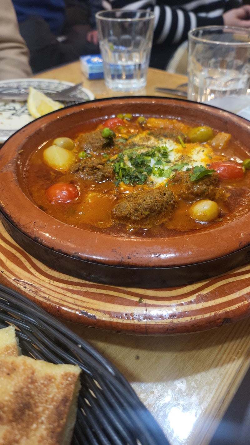
[{"label": "pale yellow-green olive nearest the front right of the stew", "polygon": [[211,201],[210,199],[200,199],[194,202],[189,209],[189,214],[192,219],[204,223],[218,218],[219,213],[220,209],[217,202]]}]

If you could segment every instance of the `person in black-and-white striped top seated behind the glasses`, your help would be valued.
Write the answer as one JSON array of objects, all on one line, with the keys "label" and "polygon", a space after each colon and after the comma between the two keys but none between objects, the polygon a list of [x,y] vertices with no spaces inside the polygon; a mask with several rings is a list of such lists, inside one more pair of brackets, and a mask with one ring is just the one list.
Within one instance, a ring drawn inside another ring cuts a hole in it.
[{"label": "person in black-and-white striped top seated behind the glasses", "polygon": [[[95,9],[96,9],[96,0]],[[165,69],[187,33],[197,26],[229,25],[250,28],[250,5],[241,0],[99,0],[101,9],[150,9],[155,13],[155,31],[150,66]],[[91,5],[91,0],[89,0]],[[87,39],[98,43],[97,31]]]}]

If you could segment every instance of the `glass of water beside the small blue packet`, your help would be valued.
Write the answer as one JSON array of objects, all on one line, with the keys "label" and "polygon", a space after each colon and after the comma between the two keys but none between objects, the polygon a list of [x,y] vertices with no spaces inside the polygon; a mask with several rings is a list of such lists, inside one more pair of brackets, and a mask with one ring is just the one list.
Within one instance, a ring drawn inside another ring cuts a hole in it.
[{"label": "glass of water beside the small blue packet", "polygon": [[147,83],[154,14],[112,9],[95,15],[104,80],[115,91],[136,91]]}]

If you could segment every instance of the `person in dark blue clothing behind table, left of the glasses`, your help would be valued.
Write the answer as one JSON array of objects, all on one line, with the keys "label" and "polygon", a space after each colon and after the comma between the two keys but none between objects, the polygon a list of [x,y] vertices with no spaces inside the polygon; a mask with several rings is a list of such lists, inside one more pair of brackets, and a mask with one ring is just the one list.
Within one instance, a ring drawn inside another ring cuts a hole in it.
[{"label": "person in dark blue clothing behind table, left of the glasses", "polygon": [[33,73],[99,53],[99,46],[86,38],[91,30],[87,1],[13,0],[13,5]]}]

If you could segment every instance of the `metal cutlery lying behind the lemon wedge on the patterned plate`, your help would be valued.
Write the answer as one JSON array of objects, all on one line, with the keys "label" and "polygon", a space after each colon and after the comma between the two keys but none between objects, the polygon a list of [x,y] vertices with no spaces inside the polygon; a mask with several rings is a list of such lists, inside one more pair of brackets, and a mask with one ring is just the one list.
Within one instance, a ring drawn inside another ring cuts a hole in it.
[{"label": "metal cutlery lying behind the lemon wedge on the patterned plate", "polygon": [[[56,93],[47,93],[45,92],[45,94],[49,97],[51,97],[51,99],[56,100],[56,101],[74,101],[74,100],[80,100],[83,98],[80,97],[75,97],[75,96],[71,96],[71,93],[73,93],[76,89],[78,89],[80,86],[82,85],[82,82],[72,85],[68,88],[64,88],[62,91],[58,91]],[[21,93],[15,93],[15,92],[11,92],[10,90],[18,90],[21,91]],[[2,88],[0,89],[0,100],[8,100],[8,101],[26,101],[28,99],[28,95],[29,93],[27,91],[25,91],[24,89],[20,89],[20,88]]]}]

